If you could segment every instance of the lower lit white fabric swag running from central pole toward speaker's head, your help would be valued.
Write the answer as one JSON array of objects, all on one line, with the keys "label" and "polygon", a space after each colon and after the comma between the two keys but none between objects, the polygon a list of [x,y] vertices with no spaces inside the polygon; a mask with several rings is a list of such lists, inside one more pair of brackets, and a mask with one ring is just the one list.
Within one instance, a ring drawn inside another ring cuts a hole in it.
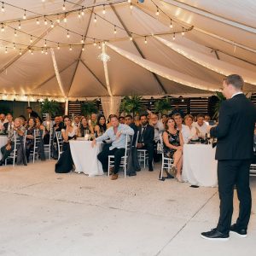
[{"label": "lower lit white fabric swag running from central pole toward speaker's head", "polygon": [[130,52],[128,52],[124,49],[120,49],[120,48],[114,46],[113,44],[109,44],[109,43],[106,43],[106,44],[108,45],[108,47],[113,49],[115,52],[119,53],[119,55],[124,56],[126,59],[133,61],[137,65],[147,69],[148,71],[150,71],[152,73],[156,73],[165,79],[169,79],[169,80],[172,80],[179,84],[185,84],[189,87],[197,88],[197,89],[201,89],[201,90],[215,91],[215,90],[218,90],[218,88],[219,88],[218,84],[210,84],[210,83],[207,83],[206,81],[202,81],[200,79],[195,79],[189,75],[179,73],[170,68],[160,66],[159,64],[156,64],[152,61],[145,60],[142,57],[131,54]]}]

